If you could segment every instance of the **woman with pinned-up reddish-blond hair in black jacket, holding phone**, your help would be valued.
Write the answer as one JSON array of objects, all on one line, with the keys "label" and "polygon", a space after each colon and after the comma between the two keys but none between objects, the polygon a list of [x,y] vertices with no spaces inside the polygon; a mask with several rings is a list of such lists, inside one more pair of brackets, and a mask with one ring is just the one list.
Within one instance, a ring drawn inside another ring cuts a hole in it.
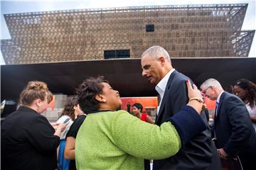
[{"label": "woman with pinned-up reddish-blond hair in black jacket, holding phone", "polygon": [[53,95],[42,81],[30,81],[20,94],[21,106],[1,124],[1,169],[56,169],[60,132],[41,115]]}]

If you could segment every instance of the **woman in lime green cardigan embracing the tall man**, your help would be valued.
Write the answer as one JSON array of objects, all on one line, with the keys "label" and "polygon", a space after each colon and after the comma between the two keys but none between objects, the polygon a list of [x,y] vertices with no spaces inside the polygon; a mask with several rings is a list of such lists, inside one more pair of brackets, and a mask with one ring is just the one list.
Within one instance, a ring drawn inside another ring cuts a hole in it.
[{"label": "woman in lime green cardigan embracing the tall man", "polygon": [[[185,83],[185,82],[184,82]],[[78,103],[87,118],[75,141],[77,169],[144,169],[144,159],[164,159],[178,152],[194,135],[206,129],[197,87],[186,82],[190,101],[160,127],[145,123],[127,111],[119,92],[103,77],[83,81]],[[192,130],[191,130],[192,129]]]}]

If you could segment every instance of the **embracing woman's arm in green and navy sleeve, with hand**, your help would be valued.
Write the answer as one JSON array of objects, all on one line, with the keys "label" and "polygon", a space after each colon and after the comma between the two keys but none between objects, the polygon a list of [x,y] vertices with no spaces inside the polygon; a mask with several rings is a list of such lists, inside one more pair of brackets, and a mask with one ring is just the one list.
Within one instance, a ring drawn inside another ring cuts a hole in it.
[{"label": "embracing woman's arm in green and navy sleeve, with hand", "polygon": [[[188,97],[200,98],[200,91],[189,82]],[[144,123],[137,118],[119,111],[112,119],[112,135],[116,145],[133,155],[144,159],[164,159],[170,157],[186,142],[199,132],[206,130],[206,124],[198,113],[203,103],[190,101],[176,115],[169,118],[170,122],[161,127]],[[168,121],[168,120],[166,120]],[[149,149],[150,148],[150,149]]]}]

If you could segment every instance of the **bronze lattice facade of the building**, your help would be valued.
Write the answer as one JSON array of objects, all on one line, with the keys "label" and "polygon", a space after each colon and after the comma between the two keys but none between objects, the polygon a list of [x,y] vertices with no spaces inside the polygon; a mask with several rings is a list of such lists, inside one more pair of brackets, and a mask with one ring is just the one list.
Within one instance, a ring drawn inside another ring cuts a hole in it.
[{"label": "bronze lattice facade of the building", "polygon": [[152,45],[171,57],[247,57],[255,30],[241,30],[246,10],[220,4],[5,14],[11,40],[1,40],[1,52],[6,64],[138,58]]}]

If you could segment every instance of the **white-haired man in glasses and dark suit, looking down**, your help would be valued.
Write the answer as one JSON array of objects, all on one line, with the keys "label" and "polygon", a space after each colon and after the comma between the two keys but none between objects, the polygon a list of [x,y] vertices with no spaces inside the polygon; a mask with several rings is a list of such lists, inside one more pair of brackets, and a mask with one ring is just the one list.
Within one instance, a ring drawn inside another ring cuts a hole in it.
[{"label": "white-haired man in glasses and dark suit, looking down", "polygon": [[210,100],[216,100],[213,134],[220,157],[238,155],[243,169],[256,169],[256,133],[245,104],[238,96],[223,91],[215,79],[203,82],[201,90]]}]

